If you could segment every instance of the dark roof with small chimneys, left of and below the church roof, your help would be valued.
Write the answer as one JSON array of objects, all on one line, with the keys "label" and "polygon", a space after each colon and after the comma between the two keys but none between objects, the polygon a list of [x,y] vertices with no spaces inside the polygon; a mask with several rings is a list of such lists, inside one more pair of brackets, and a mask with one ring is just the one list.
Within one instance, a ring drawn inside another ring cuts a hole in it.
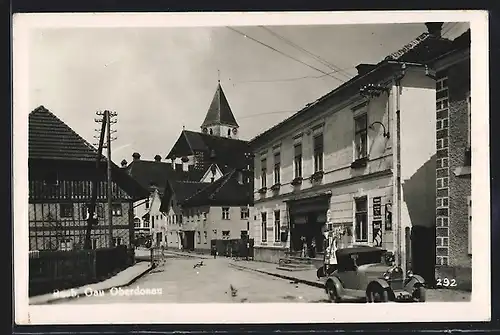
[{"label": "dark roof with small chimneys, left of and below the church roof", "polygon": [[198,181],[203,176],[202,171],[183,171],[181,164],[178,164],[174,169],[171,163],[145,160],[132,161],[125,170],[142,187],[146,189],[150,189],[152,186],[157,187],[161,195],[165,191],[167,180]]}]

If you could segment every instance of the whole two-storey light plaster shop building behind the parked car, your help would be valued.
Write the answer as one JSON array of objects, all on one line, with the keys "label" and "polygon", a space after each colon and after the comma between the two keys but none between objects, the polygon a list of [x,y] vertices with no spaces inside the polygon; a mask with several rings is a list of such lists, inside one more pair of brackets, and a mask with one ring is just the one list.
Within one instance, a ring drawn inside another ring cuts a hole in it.
[{"label": "whole two-storey light plaster shop building behind the parked car", "polygon": [[424,64],[451,44],[441,26],[250,141],[256,260],[304,244],[321,257],[330,230],[339,247],[380,246],[410,266],[424,248],[412,231],[435,229],[435,79]]}]

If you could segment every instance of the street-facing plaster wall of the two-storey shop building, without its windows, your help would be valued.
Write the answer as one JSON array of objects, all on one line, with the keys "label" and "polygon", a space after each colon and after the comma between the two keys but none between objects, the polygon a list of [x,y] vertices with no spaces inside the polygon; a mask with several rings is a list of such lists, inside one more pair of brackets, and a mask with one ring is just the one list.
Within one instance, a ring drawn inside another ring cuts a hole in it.
[{"label": "street-facing plaster wall of the two-storey shop building, without its windows", "polygon": [[[325,192],[331,193],[329,209],[331,211],[331,223],[354,230],[354,198],[367,196],[368,200],[368,240],[364,244],[373,244],[373,198],[380,197],[381,200],[381,223],[382,223],[382,246],[393,248],[393,232],[385,230],[384,207],[392,201],[392,141],[383,136],[384,127],[374,124],[367,129],[368,138],[368,161],[366,166],[351,167],[355,160],[354,149],[354,116],[366,113],[367,125],[380,122],[389,129],[392,122],[390,113],[390,97],[382,93],[379,97],[370,101],[353,97],[342,105],[331,106],[325,113],[319,114],[317,118],[310,120],[307,124],[297,127],[294,131],[277,136],[277,140],[269,143],[266,147],[255,150],[255,208],[252,214],[251,235],[255,238],[255,259],[267,262],[278,262],[283,258],[285,250],[290,247],[290,233],[287,242],[274,241],[273,212],[281,211],[281,224],[289,226],[288,209],[285,201],[294,198],[314,197]],[[316,125],[321,127],[324,137],[324,175],[319,182],[313,182],[310,177],[314,173],[314,148],[313,136]],[[294,143],[297,135],[301,136],[302,143],[302,176],[304,180],[301,185],[291,185],[294,176]],[[260,181],[261,159],[265,156],[267,160],[267,186],[273,185],[273,148],[279,146],[281,158],[281,187],[278,191],[268,190],[264,194],[259,193],[262,187]],[[261,214],[267,213],[267,241],[262,241]],[[391,228],[391,227],[389,227]],[[355,241],[354,236],[345,237],[350,242]]]}]

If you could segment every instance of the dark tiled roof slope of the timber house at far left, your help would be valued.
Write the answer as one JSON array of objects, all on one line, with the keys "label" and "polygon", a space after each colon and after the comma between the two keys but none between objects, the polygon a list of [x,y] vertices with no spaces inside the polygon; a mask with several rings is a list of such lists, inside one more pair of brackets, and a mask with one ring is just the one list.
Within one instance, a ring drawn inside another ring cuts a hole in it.
[{"label": "dark tiled roof slope of the timber house at far left", "polygon": [[29,158],[95,161],[97,157],[92,145],[44,106],[30,113],[28,128]]}]

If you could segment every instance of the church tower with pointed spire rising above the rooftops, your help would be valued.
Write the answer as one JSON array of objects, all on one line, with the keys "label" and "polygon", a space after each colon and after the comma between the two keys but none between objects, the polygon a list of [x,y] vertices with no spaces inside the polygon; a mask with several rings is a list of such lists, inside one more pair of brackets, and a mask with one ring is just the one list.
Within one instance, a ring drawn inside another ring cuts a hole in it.
[{"label": "church tower with pointed spire rising above the rooftops", "polygon": [[201,125],[201,131],[204,134],[238,139],[238,128],[239,125],[219,81],[205,121]]}]

